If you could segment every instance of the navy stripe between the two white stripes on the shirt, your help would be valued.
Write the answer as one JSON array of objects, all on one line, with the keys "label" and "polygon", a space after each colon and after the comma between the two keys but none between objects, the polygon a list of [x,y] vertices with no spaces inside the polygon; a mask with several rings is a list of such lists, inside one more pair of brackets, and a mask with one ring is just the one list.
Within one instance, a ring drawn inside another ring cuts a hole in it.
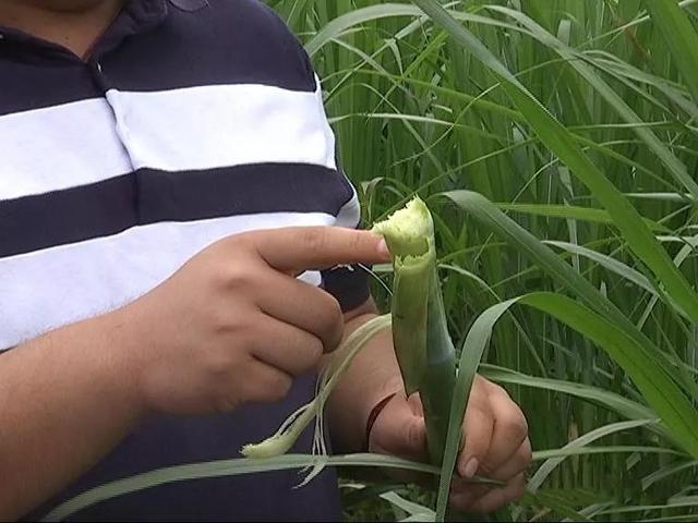
[{"label": "navy stripe between the two white stripes on the shirt", "polygon": [[[275,184],[286,185],[286,191],[269,193]],[[344,192],[338,191],[342,185]],[[321,166],[254,163],[185,172],[140,169],[104,182],[0,203],[0,258],[161,221],[242,215],[254,220],[254,215],[269,212],[336,217],[352,196],[344,177]],[[263,212],[260,200],[265,202]],[[351,217],[335,224],[353,227],[353,221]]]}]

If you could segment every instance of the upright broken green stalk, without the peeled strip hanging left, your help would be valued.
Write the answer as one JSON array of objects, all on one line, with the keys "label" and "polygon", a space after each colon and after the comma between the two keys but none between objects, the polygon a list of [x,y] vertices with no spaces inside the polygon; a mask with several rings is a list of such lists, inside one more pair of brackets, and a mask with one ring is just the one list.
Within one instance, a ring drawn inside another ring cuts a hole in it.
[{"label": "upright broken green stalk, without the peeled strip hanging left", "polygon": [[373,231],[393,257],[393,342],[405,391],[419,391],[424,408],[429,455],[440,465],[448,434],[456,356],[436,269],[434,223],[416,197]]}]

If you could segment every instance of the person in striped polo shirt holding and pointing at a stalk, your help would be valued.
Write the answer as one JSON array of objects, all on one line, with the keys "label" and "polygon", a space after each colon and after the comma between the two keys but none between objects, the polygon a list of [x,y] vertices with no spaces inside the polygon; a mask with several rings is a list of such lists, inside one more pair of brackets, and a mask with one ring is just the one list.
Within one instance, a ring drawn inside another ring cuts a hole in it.
[{"label": "person in striped polo shirt holding and pointing at a stalk", "polygon": [[[388,256],[357,228],[308,56],[257,0],[3,0],[0,35],[0,519],[34,520],[267,437],[376,314],[347,266]],[[336,452],[426,459],[387,332],[327,418]],[[504,389],[477,379],[464,430],[452,503],[520,497],[531,448]],[[334,474],[174,483],[72,519],[336,520]]]}]

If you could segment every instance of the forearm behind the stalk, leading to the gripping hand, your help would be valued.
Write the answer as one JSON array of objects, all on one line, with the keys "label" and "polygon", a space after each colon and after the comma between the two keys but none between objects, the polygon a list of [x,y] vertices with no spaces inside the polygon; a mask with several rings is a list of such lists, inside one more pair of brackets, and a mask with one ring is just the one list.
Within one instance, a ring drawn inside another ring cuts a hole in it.
[{"label": "forearm behind the stalk, leading to the gripping hand", "polygon": [[[374,308],[373,308],[374,309]],[[346,336],[375,317],[366,306],[346,324]],[[365,427],[373,408],[387,396],[402,390],[402,378],[389,329],[376,335],[356,356],[333,392],[327,414],[337,452],[364,450]]]}]

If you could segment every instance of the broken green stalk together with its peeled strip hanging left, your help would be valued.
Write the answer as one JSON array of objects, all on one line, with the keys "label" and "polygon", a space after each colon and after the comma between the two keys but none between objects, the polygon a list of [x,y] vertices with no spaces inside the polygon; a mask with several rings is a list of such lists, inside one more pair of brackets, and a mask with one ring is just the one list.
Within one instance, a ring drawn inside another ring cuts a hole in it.
[{"label": "broken green stalk together with its peeled strip hanging left", "polygon": [[390,315],[357,329],[323,374],[315,400],[294,412],[270,438],[246,445],[243,455],[268,459],[288,452],[310,422],[322,414],[325,401],[353,356],[392,321],[405,390],[408,394],[420,393],[430,460],[435,465],[442,463],[456,380],[456,356],[436,270],[434,223],[426,205],[414,198],[387,220],[376,223],[374,231],[384,235],[393,257]]}]

